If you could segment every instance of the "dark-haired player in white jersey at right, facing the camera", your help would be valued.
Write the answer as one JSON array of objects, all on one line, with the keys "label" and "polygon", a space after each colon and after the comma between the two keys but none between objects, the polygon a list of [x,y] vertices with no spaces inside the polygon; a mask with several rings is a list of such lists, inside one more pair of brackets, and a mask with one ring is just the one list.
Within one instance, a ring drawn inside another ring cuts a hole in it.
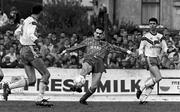
[{"label": "dark-haired player in white jersey at right, facing the camera", "polygon": [[[138,88],[136,97],[140,99],[140,104],[145,104],[147,97],[153,90],[154,85],[162,79],[159,65],[159,56],[161,53],[167,53],[168,47],[165,38],[162,34],[156,31],[158,21],[156,18],[149,19],[150,31],[142,37],[139,46],[139,55],[141,61],[146,62],[147,69],[150,71],[150,76],[143,85]],[[145,95],[141,96],[145,90]]]}]

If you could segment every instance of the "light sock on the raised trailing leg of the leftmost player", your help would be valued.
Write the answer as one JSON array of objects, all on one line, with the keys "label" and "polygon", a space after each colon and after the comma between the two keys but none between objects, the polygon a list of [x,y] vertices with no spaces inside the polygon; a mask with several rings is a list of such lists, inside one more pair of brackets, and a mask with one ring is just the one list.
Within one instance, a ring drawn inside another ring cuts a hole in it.
[{"label": "light sock on the raised trailing leg of the leftmost player", "polygon": [[29,85],[29,81],[27,79],[25,79],[25,78],[22,78],[17,82],[9,84],[9,88],[10,89],[15,89],[15,88],[20,88],[20,87],[25,87],[27,85]]}]

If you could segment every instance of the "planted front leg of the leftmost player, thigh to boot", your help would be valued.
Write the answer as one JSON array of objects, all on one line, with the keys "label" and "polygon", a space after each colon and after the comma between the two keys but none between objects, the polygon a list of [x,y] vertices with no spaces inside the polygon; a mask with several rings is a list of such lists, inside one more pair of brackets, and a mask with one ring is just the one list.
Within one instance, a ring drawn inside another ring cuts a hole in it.
[{"label": "planted front leg of the leftmost player, thigh to boot", "polygon": [[50,73],[41,58],[35,58],[31,64],[42,75],[39,83],[39,94],[36,99],[36,104],[40,106],[52,106],[53,104],[50,104],[46,99],[44,99],[44,93],[49,84]]}]

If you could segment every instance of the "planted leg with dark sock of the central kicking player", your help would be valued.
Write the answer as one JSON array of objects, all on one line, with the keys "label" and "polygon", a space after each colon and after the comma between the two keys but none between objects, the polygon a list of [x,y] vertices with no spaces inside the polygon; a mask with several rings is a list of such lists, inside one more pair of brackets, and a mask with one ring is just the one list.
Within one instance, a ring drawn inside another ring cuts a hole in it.
[{"label": "planted leg with dark sock of the central kicking player", "polygon": [[87,105],[86,100],[96,91],[100,80],[101,80],[102,73],[93,73],[92,74],[92,83],[91,87],[87,90],[87,92],[81,97],[80,103]]}]

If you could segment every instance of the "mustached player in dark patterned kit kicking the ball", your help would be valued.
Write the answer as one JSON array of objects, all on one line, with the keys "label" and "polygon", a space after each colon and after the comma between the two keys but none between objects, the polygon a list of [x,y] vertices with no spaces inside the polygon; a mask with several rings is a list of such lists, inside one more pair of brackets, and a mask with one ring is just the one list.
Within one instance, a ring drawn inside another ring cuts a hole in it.
[{"label": "mustached player in dark patterned kit kicking the ball", "polygon": [[[80,103],[88,105],[86,100],[96,91],[98,84],[100,83],[102,73],[105,72],[104,60],[109,52],[125,52],[133,54],[131,51],[124,48],[112,45],[106,41],[102,41],[103,29],[98,27],[94,32],[92,38],[87,38],[80,44],[66,49],[66,52],[72,52],[77,49],[86,49],[84,60],[82,63],[82,69],[80,76],[85,78],[86,75],[92,73],[92,82],[87,92],[80,98]],[[72,86],[71,91],[82,92],[81,87]]]}]

